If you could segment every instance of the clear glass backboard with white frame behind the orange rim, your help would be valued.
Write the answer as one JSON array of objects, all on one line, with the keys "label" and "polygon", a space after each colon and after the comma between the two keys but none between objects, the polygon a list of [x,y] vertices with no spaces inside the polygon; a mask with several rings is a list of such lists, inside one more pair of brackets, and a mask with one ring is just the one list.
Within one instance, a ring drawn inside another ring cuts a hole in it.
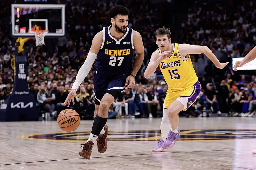
[{"label": "clear glass backboard with white frame behind the orange rim", "polygon": [[12,37],[34,37],[35,29],[48,30],[46,37],[66,35],[65,5],[12,4]]}]

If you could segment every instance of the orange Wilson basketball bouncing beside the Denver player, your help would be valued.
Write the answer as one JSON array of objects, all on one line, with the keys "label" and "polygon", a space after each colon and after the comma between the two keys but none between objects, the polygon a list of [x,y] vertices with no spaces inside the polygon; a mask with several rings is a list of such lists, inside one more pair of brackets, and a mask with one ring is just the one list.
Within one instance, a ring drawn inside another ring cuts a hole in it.
[{"label": "orange Wilson basketball bouncing beside the Denver player", "polygon": [[75,131],[80,124],[80,116],[73,109],[65,109],[60,112],[57,122],[62,131]]}]

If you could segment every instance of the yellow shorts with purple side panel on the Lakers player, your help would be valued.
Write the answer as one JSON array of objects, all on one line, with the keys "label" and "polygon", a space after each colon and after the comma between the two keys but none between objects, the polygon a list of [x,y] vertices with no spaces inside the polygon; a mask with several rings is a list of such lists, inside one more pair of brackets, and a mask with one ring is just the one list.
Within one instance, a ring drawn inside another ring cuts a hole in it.
[{"label": "yellow shorts with purple side panel on the Lakers player", "polygon": [[183,111],[186,111],[188,107],[191,106],[200,96],[200,93],[201,84],[199,81],[197,81],[192,87],[185,90],[172,91],[171,89],[168,89],[164,100],[164,109],[168,109],[174,100],[178,100],[184,105]]}]

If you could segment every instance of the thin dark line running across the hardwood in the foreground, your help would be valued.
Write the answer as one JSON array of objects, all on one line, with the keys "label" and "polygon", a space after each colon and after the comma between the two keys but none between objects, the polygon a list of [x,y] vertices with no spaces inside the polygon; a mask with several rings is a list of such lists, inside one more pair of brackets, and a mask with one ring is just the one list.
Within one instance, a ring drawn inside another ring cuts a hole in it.
[{"label": "thin dark line running across the hardwood in the foreground", "polygon": [[[139,155],[151,155],[151,154],[166,154],[166,153],[191,153],[191,152],[213,152],[213,151],[233,151],[235,149],[222,149],[222,150],[208,150],[208,151],[188,151],[188,152],[155,152],[155,153],[144,153],[144,154],[133,154],[133,155],[116,155],[116,156],[102,156],[102,157],[92,157],[93,158],[109,158],[109,157],[125,157],[125,156],[139,156]],[[16,165],[16,164],[28,164],[28,163],[38,163],[38,162],[52,162],[52,161],[62,161],[62,160],[75,160],[75,159],[85,159],[85,158],[72,158],[72,159],[56,159],[56,160],[42,160],[42,161],[33,161],[33,162],[20,162],[12,164],[2,164],[4,165]]]}]

